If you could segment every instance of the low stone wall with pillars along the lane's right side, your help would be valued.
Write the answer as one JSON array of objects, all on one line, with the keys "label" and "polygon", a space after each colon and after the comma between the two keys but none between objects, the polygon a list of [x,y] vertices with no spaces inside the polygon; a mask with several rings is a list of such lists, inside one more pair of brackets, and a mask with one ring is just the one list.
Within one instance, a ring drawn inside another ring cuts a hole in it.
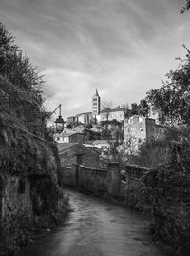
[{"label": "low stone wall with pillars along the lane's right side", "polygon": [[142,209],[146,191],[143,176],[148,171],[136,166],[120,168],[118,163],[109,163],[106,169],[72,165],[62,167],[62,176],[63,185],[83,187],[96,194],[108,193],[122,198],[129,206]]}]

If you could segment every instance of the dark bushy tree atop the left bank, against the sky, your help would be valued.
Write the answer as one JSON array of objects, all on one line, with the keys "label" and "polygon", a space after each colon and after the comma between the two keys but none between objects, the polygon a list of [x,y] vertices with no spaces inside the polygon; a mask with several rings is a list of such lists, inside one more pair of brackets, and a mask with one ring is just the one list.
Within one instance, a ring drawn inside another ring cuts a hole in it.
[{"label": "dark bushy tree atop the left bank, against the sky", "polygon": [[[14,37],[0,23],[0,105],[36,135],[46,128],[42,77],[27,56],[14,44]],[[6,106],[6,107],[5,107]],[[10,118],[10,117],[9,117]]]}]

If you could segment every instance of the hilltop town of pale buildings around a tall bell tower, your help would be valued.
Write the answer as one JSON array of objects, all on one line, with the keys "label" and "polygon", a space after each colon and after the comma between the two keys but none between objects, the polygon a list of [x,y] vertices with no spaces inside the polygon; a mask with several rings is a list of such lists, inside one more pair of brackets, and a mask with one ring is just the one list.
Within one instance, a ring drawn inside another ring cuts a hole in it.
[{"label": "hilltop town of pale buildings around a tall bell tower", "polygon": [[[130,150],[133,149],[135,153],[142,143],[163,141],[165,138],[166,127],[159,124],[159,114],[153,113],[152,108],[144,102],[142,100],[143,105],[140,104],[136,109],[119,106],[101,110],[101,97],[96,89],[92,96],[91,112],[67,117],[63,131],[54,133],[54,140],[63,144],[58,145],[58,148],[67,148],[66,144],[70,148],[78,143],[84,148],[99,151],[104,158],[107,155],[109,159],[112,157],[109,142],[117,140],[125,148],[122,153],[124,158],[128,154],[128,143]],[[119,137],[116,138],[116,135]],[[120,157],[119,148],[117,153]],[[117,160],[116,155],[114,157],[113,160]]]}]

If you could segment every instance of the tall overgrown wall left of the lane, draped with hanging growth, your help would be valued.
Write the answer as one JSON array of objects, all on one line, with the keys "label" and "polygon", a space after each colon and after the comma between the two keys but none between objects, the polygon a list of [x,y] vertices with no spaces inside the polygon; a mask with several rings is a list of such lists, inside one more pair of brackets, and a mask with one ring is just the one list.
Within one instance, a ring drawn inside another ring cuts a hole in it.
[{"label": "tall overgrown wall left of the lane, draped with hanging growth", "polygon": [[[3,148],[0,153],[0,174],[4,183],[2,188],[3,201],[1,200],[3,202],[3,208],[1,207],[3,215],[6,215],[7,211],[11,211],[9,209],[11,207],[15,208],[16,205],[21,207],[19,202],[25,201],[25,204],[29,205],[31,190],[34,190],[37,182],[37,187],[41,187],[41,190],[37,189],[39,199],[42,202],[47,202],[47,197],[49,197],[49,201],[53,200],[54,204],[48,204],[48,207],[56,209],[58,174],[60,171],[56,146],[43,140],[43,138],[36,138],[28,132],[16,128],[6,131],[0,129],[0,138]],[[19,183],[21,184],[22,182],[25,183],[25,192],[27,194],[19,193]],[[44,191],[42,191],[43,189]],[[44,195],[46,194],[46,198],[42,195],[43,193]],[[12,206],[5,207],[8,205],[5,202],[10,202]],[[23,207],[21,207],[23,210],[25,210],[25,204],[23,203]],[[42,204],[47,203],[43,202]],[[28,208],[33,208],[33,206]],[[42,213],[44,213],[44,209]]]}]

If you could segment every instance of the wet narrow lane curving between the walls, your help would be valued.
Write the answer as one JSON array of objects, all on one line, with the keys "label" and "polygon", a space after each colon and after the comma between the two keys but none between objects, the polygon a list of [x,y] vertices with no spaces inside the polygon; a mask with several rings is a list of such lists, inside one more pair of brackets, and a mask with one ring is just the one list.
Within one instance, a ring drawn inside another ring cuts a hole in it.
[{"label": "wet narrow lane curving between the walls", "polygon": [[63,225],[18,256],[160,256],[148,221],[126,207],[67,190],[73,209]]}]

